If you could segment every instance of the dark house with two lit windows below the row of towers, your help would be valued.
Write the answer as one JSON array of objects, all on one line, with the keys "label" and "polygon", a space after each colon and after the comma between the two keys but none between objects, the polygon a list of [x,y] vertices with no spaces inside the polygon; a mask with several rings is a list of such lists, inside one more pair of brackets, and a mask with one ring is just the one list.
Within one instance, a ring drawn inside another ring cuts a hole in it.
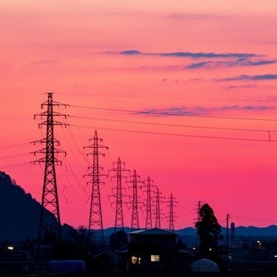
[{"label": "dark house with two lit windows below the row of towers", "polygon": [[154,228],[129,233],[129,271],[184,271],[190,258],[176,245],[177,234]]}]

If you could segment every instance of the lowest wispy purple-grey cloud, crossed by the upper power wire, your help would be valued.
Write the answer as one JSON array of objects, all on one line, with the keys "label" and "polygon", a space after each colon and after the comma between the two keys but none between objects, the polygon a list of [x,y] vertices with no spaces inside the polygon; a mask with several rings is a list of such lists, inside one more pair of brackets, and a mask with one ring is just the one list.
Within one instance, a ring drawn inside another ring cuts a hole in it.
[{"label": "lowest wispy purple-grey cloud, crossed by the upper power wire", "polygon": [[139,111],[139,113],[137,114],[147,114],[150,116],[205,116],[215,114],[217,111],[243,111],[249,109],[263,111],[267,109],[276,109],[276,107],[266,105],[227,105],[221,107],[168,107],[166,109],[148,109],[144,111]]}]

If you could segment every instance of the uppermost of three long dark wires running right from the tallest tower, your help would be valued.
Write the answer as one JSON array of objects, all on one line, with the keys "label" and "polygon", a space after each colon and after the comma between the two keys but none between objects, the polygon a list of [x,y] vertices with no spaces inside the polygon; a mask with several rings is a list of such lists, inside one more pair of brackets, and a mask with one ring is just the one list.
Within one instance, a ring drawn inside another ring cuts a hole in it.
[{"label": "uppermost of three long dark wires running right from the tallest tower", "polygon": [[188,117],[201,117],[201,118],[220,118],[220,119],[235,119],[235,120],[259,120],[259,121],[277,121],[277,118],[243,118],[243,117],[235,117],[235,116],[208,116],[201,114],[178,114],[178,113],[170,113],[165,111],[136,111],[132,109],[109,109],[102,107],[89,107],[89,106],[78,106],[78,105],[68,105],[69,107],[77,107],[82,109],[98,109],[101,111],[122,111],[129,112],[133,114],[157,114],[162,116],[188,116]]}]

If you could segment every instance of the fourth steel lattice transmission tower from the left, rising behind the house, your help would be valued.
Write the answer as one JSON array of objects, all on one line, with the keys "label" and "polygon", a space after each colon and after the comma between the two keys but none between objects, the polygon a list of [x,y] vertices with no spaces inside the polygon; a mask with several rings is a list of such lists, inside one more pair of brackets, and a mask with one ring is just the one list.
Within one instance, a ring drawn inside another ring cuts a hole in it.
[{"label": "fourth steel lattice transmission tower from the left, rising behind the house", "polygon": [[132,222],[131,231],[139,230],[139,202],[138,202],[138,183],[143,183],[139,181],[139,175],[136,175],[136,170],[134,170],[134,175],[130,176],[132,179],[127,181],[132,183],[133,196],[132,196]]}]

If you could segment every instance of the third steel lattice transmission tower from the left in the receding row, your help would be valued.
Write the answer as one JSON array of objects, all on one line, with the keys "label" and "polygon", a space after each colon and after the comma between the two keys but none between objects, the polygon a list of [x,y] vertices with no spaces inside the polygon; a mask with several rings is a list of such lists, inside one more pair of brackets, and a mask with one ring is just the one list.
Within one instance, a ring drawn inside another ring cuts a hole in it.
[{"label": "third steel lattice transmission tower from the left in the receding row", "polygon": [[125,176],[123,176],[123,172],[129,170],[125,169],[125,163],[123,163],[120,158],[118,158],[118,161],[113,163],[113,169],[109,171],[116,172],[116,176],[112,176],[111,178],[116,178],[116,188],[113,188],[113,190],[116,190],[116,193],[113,193],[112,195],[109,195],[110,197],[115,197],[116,202],[112,202],[112,204],[116,204],[116,219],[114,222],[114,233],[116,233],[117,229],[124,231],[124,221],[123,221],[123,197],[128,197],[128,195],[123,194],[123,188],[122,186],[122,180],[126,179]]}]

